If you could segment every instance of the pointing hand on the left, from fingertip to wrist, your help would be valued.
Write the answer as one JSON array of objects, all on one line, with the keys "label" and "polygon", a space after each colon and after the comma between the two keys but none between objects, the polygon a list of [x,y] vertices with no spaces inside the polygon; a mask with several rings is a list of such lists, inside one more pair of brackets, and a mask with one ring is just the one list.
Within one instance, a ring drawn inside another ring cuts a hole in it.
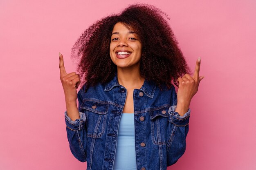
[{"label": "pointing hand on the left, from fingertip to wrist", "polygon": [[79,87],[79,84],[80,84],[79,75],[76,74],[76,72],[67,74],[65,71],[63,56],[61,53],[59,53],[59,59],[60,59],[59,68],[61,73],[61,84],[63,86],[66,102],[76,102],[76,98],[77,98],[76,89]]}]

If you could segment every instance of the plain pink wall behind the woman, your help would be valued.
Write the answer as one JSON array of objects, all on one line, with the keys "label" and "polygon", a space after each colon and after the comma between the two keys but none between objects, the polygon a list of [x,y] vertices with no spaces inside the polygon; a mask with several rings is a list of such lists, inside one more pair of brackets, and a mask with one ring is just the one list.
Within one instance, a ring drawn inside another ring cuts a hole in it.
[{"label": "plain pink wall behind the woman", "polygon": [[[85,170],[70,152],[58,52],[94,21],[138,1],[0,1],[0,169]],[[187,149],[168,170],[256,169],[256,1],[157,0],[184,56],[205,78],[191,103]]]}]

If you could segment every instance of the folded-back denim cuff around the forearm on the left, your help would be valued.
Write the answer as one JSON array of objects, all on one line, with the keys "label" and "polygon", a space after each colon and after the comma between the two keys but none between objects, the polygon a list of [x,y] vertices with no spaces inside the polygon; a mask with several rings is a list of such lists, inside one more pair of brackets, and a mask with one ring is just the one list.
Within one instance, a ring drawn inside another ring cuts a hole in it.
[{"label": "folded-back denim cuff around the forearm on the left", "polygon": [[65,111],[65,123],[67,128],[70,130],[83,130],[85,128],[86,116],[85,113],[79,112],[80,119],[72,121],[70,117],[67,116],[67,111]]}]

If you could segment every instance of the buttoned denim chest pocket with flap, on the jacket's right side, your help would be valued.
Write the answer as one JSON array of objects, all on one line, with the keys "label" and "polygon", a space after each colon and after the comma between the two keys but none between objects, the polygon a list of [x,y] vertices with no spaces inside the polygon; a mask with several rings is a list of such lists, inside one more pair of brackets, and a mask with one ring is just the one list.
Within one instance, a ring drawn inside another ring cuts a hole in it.
[{"label": "buttoned denim chest pocket with flap, on the jacket's right side", "polygon": [[[156,145],[166,145],[168,137],[171,134],[171,127],[168,121],[169,106],[162,106],[157,110],[151,110],[150,124],[151,124],[151,137]],[[169,134],[170,133],[170,134]]]}]

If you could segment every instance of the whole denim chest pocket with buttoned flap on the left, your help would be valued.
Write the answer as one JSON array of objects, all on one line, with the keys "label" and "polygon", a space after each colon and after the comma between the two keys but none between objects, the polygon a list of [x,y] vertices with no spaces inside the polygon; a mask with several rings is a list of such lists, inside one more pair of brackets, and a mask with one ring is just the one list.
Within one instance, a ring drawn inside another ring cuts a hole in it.
[{"label": "whole denim chest pocket with buttoned flap on the left", "polygon": [[80,108],[85,109],[88,137],[98,138],[104,134],[108,116],[108,107],[108,104],[94,101],[83,101],[80,105]]}]

